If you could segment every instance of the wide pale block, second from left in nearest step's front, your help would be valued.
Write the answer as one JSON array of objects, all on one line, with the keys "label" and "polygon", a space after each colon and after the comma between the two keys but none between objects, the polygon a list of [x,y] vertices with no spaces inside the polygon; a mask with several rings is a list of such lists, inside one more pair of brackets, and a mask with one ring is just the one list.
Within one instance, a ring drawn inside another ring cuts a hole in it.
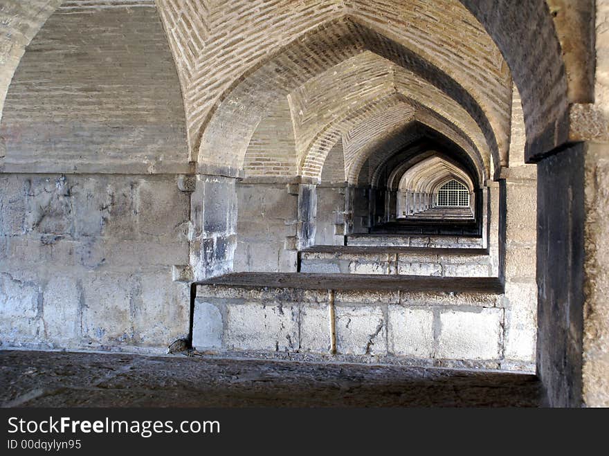
[{"label": "wide pale block, second from left in nearest step's front", "polygon": [[228,349],[293,352],[298,349],[298,308],[277,304],[227,304]]}]

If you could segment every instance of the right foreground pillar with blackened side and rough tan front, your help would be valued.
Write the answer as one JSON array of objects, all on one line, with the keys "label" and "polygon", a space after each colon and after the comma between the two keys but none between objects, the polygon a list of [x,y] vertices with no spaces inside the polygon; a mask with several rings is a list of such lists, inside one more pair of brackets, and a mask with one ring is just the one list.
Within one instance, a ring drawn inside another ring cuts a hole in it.
[{"label": "right foreground pillar with blackened side and rough tan front", "polygon": [[609,406],[609,144],[538,163],[538,374],[549,405]]}]

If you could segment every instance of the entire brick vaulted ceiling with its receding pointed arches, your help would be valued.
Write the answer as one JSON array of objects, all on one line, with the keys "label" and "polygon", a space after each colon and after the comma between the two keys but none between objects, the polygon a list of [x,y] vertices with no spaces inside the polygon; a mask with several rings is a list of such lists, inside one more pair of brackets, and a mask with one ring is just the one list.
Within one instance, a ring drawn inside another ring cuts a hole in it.
[{"label": "entire brick vaulted ceiling with its receding pointed arches", "polygon": [[[237,174],[245,163],[254,174],[273,174],[261,165],[269,161],[275,174],[314,178],[339,144],[345,175],[353,175],[365,161],[360,154],[414,116],[476,156],[492,176],[509,163],[514,142],[512,79],[526,129],[519,148],[524,143],[529,156],[531,148],[546,152],[565,141],[567,103],[581,101],[567,99],[569,69],[557,38],[565,34],[556,33],[545,0],[29,4],[7,0],[0,8],[8,18],[0,26],[0,57],[11,68],[58,6],[156,7],[181,83],[190,161],[201,171]],[[1,97],[13,71],[1,75]],[[273,132],[281,145],[275,159],[262,130],[288,114],[291,128],[283,122]]]}]

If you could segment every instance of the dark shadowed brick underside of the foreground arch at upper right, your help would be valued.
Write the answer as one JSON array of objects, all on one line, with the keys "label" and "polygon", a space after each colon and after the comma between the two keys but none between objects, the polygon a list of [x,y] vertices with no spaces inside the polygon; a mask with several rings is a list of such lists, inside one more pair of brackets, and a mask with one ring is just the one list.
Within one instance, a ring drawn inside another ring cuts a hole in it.
[{"label": "dark shadowed brick underside of the foreground arch at upper right", "polygon": [[567,75],[556,28],[543,0],[461,0],[493,38],[522,98],[527,160],[569,135]]}]

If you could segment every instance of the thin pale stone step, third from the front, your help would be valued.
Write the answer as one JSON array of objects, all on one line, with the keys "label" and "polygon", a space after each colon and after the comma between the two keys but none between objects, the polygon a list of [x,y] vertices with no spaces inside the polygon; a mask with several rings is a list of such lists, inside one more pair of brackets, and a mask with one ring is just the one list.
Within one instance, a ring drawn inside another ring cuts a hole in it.
[{"label": "thin pale stone step, third from the front", "polygon": [[356,233],[345,237],[347,246],[484,248],[480,236],[397,234],[392,232]]}]

